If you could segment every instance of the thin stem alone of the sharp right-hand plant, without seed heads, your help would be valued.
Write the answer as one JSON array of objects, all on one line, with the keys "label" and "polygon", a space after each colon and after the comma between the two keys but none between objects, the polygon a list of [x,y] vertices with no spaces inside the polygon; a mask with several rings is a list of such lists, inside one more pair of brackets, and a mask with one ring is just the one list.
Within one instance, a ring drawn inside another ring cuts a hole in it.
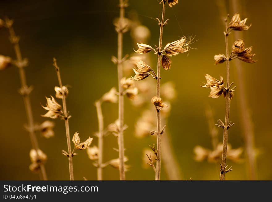
[{"label": "thin stem alone of the sharp right-hand plant, without seed heads", "polygon": [[[227,34],[227,18],[225,19],[226,25],[226,34],[225,34],[225,44],[226,44],[226,57],[227,57],[227,89],[230,84],[230,76],[229,76],[229,53],[228,53],[228,34]],[[228,122],[229,122],[229,108],[230,108],[230,93],[229,90],[226,92],[226,114],[225,114],[225,126],[224,126],[224,133],[223,133],[223,153],[222,153],[222,161],[221,165],[223,171],[220,173],[220,180],[225,180],[225,166],[226,166],[226,159],[227,159],[227,137],[228,137]]]}]

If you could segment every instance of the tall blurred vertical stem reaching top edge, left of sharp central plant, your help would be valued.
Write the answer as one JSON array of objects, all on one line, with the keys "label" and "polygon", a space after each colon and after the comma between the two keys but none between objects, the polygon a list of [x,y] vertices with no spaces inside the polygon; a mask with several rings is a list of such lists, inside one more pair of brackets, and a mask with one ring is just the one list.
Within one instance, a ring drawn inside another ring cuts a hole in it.
[{"label": "tall blurred vertical stem reaching top edge, left of sharp central plant", "polygon": [[[119,1],[120,3],[120,21],[122,22],[125,15],[125,7],[123,0]],[[123,32],[118,31],[117,36],[117,71],[118,71],[118,91],[119,91],[119,103],[118,103],[118,120],[120,123],[120,131],[118,134],[118,150],[119,150],[119,175],[120,180],[125,180],[125,168],[124,168],[124,134],[123,134],[123,126],[124,126],[124,96],[121,93],[123,88],[121,86],[121,79],[123,77],[122,70],[122,55],[123,55]]]}]

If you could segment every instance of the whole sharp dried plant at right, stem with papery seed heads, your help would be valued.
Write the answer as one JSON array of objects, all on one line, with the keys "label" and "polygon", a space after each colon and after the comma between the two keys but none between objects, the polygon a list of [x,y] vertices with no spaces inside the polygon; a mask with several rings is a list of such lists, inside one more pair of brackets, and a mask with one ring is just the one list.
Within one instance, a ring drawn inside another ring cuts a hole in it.
[{"label": "whole sharp dried plant at right, stem with papery seed heads", "polygon": [[[253,60],[253,56],[255,54],[251,53],[252,47],[245,48],[244,40],[238,39],[232,45],[232,51],[229,55],[229,45],[228,45],[228,36],[231,31],[244,31],[248,30],[251,25],[246,25],[247,18],[241,20],[240,14],[236,13],[233,15],[231,21],[228,23],[228,17],[224,19],[226,30],[224,31],[225,35],[225,46],[226,46],[226,56],[223,54],[215,55],[215,64],[220,64],[226,61],[227,63],[227,83],[224,84],[223,78],[220,76],[220,80],[216,80],[210,75],[205,75],[207,83],[202,86],[205,88],[210,88],[210,96],[212,98],[217,98],[221,94],[224,95],[226,99],[226,113],[225,113],[225,123],[223,123],[220,119],[219,127],[223,128],[223,154],[220,168],[220,180],[225,180],[225,173],[231,171],[231,168],[227,169],[226,158],[227,158],[227,139],[228,139],[228,129],[234,125],[234,123],[229,122],[229,113],[230,113],[230,100],[233,97],[234,88],[231,89],[233,83],[230,83],[230,63],[229,61],[238,58],[244,62],[254,63],[256,60]],[[225,87],[226,86],[226,87]]]}]

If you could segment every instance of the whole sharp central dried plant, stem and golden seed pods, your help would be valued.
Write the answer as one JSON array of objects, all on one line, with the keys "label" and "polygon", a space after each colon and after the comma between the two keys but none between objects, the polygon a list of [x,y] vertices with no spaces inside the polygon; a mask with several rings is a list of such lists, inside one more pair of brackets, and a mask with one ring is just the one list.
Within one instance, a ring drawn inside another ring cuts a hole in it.
[{"label": "whole sharp central dried plant, stem and golden seed pods", "polygon": [[[138,69],[135,70],[135,76],[132,77],[132,80],[143,80],[147,78],[148,76],[152,75],[154,79],[157,80],[156,85],[156,96],[154,96],[151,99],[151,102],[155,105],[156,113],[157,113],[157,131],[153,130],[150,131],[150,134],[157,134],[157,147],[152,147],[152,150],[157,156],[157,163],[156,163],[156,169],[155,169],[155,180],[160,179],[160,171],[161,171],[161,135],[164,133],[165,126],[161,127],[161,109],[167,107],[167,105],[163,102],[162,98],[160,97],[160,68],[161,66],[165,70],[169,70],[171,67],[172,61],[170,60],[169,56],[176,56],[179,53],[184,53],[189,50],[188,43],[186,42],[186,37],[182,37],[179,40],[176,40],[172,43],[167,43],[164,48],[162,48],[162,39],[163,39],[163,27],[168,23],[168,20],[164,21],[165,17],[165,7],[166,3],[170,7],[176,5],[178,3],[178,0],[162,0],[160,4],[162,4],[162,18],[159,20],[156,19],[159,23],[160,31],[159,31],[159,45],[155,46],[156,49],[151,47],[150,45],[143,44],[143,43],[137,43],[138,49],[135,50],[135,52],[139,54],[145,54],[151,51],[154,51],[157,55],[157,74],[152,70],[150,66],[145,64],[143,61],[138,61],[138,64],[143,65],[137,65]],[[151,73],[150,73],[151,72]]]}]

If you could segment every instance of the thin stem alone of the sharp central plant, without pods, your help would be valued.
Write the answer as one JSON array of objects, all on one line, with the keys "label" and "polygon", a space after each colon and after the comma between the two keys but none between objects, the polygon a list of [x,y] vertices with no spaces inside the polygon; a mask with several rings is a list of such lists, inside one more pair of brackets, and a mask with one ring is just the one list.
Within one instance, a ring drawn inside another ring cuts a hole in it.
[{"label": "thin stem alone of the sharp central plant, without pods", "polygon": [[[160,97],[160,66],[161,66],[161,53],[160,49],[162,46],[163,41],[163,27],[164,27],[164,15],[165,15],[165,2],[163,1],[163,11],[162,11],[162,18],[159,28],[159,52],[158,52],[158,61],[157,61],[157,90],[156,90],[156,96]],[[160,179],[160,171],[161,171],[161,120],[160,120],[160,110],[157,109],[157,164],[156,164],[156,173],[155,173],[155,180]]]}]

